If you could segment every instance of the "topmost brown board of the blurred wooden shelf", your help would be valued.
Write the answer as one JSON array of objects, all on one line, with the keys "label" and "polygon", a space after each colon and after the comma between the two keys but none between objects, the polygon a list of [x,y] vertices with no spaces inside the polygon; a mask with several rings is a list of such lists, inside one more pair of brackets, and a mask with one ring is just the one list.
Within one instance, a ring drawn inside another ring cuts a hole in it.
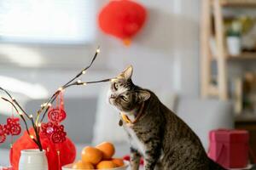
[{"label": "topmost brown board of the blurred wooden shelf", "polygon": [[220,4],[224,7],[256,8],[255,0],[221,0]]}]

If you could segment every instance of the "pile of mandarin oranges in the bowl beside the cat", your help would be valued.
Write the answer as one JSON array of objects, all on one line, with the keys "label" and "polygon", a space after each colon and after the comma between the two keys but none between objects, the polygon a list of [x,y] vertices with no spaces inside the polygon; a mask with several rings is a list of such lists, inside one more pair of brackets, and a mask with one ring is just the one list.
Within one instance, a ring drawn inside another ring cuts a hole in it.
[{"label": "pile of mandarin oranges in the bowl beside the cat", "polygon": [[114,146],[110,142],[103,142],[96,147],[86,146],[82,150],[82,160],[73,164],[73,169],[109,169],[123,167],[121,158],[113,158]]}]

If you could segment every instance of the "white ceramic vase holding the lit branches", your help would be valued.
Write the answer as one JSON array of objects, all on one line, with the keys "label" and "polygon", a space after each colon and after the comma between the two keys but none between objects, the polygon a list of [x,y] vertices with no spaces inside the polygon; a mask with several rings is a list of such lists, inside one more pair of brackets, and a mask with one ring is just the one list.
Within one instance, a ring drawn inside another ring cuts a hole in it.
[{"label": "white ceramic vase holding the lit branches", "polygon": [[48,170],[45,150],[21,150],[19,170]]}]

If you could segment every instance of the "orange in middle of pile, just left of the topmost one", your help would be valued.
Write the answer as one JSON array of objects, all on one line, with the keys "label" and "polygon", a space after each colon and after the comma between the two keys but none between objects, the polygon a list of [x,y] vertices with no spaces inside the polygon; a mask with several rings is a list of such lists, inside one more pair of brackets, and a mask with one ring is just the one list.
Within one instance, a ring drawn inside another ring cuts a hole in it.
[{"label": "orange in middle of pile, just left of the topmost one", "polygon": [[98,150],[91,146],[84,147],[81,154],[83,162],[90,162],[94,165],[102,161],[102,156],[103,154],[101,150]]}]

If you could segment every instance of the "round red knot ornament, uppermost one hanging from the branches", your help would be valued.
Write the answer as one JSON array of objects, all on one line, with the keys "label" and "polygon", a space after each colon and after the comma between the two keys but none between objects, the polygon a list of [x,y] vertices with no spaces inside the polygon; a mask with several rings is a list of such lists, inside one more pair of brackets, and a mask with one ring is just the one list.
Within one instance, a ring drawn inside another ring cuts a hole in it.
[{"label": "round red knot ornament, uppermost one hanging from the branches", "polygon": [[66,111],[59,107],[52,108],[48,112],[48,118],[50,122],[60,123],[66,119],[66,116]]}]

